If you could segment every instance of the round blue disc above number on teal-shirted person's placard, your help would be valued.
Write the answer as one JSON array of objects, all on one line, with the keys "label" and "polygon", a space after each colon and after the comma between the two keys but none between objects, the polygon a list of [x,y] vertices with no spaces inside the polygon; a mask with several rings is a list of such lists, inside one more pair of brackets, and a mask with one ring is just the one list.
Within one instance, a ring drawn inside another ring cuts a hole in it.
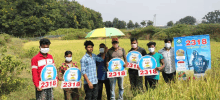
[{"label": "round blue disc above number on teal-shirted person's placard", "polygon": [[152,56],[143,56],[138,63],[141,70],[145,69],[155,69],[157,67],[157,62]]}]

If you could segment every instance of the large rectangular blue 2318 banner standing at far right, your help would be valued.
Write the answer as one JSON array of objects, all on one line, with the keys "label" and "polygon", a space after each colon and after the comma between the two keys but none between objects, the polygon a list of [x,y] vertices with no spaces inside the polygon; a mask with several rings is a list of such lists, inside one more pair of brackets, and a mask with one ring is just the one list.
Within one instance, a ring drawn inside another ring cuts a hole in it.
[{"label": "large rectangular blue 2318 banner standing at far right", "polygon": [[209,35],[175,37],[174,54],[177,71],[191,70],[194,74],[204,74],[211,69]]}]

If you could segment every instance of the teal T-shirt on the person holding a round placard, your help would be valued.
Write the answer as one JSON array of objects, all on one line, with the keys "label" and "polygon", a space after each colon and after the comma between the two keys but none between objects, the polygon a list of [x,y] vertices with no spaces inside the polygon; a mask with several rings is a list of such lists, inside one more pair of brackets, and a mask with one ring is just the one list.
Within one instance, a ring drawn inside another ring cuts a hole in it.
[{"label": "teal T-shirt on the person holding a round placard", "polygon": [[[150,54],[148,54],[150,55]],[[163,59],[163,55],[162,54],[159,54],[159,53],[155,53],[154,55],[150,55],[152,57],[155,58],[156,62],[157,62],[157,67],[160,67],[160,60]],[[160,71],[158,71],[158,73],[160,73]],[[153,79],[156,79],[156,80],[159,80],[160,79],[160,74],[158,75],[151,75],[151,76],[146,76],[147,78],[153,78]]]}]

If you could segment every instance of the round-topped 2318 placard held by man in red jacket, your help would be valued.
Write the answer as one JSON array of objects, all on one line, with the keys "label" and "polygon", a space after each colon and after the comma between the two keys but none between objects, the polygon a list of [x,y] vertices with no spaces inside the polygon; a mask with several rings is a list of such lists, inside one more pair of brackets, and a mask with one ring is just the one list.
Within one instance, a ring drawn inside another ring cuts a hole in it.
[{"label": "round-topped 2318 placard held by man in red jacket", "polygon": [[40,88],[47,89],[57,87],[57,70],[54,65],[46,65],[41,71]]}]

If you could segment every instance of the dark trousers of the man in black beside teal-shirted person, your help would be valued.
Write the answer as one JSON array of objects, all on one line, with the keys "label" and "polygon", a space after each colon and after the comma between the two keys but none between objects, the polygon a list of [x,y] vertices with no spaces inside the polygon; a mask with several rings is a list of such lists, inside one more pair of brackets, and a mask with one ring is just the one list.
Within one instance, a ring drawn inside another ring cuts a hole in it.
[{"label": "dark trousers of the man in black beside teal-shirted person", "polygon": [[129,69],[129,79],[133,96],[143,92],[143,77],[138,75],[138,70]]}]

